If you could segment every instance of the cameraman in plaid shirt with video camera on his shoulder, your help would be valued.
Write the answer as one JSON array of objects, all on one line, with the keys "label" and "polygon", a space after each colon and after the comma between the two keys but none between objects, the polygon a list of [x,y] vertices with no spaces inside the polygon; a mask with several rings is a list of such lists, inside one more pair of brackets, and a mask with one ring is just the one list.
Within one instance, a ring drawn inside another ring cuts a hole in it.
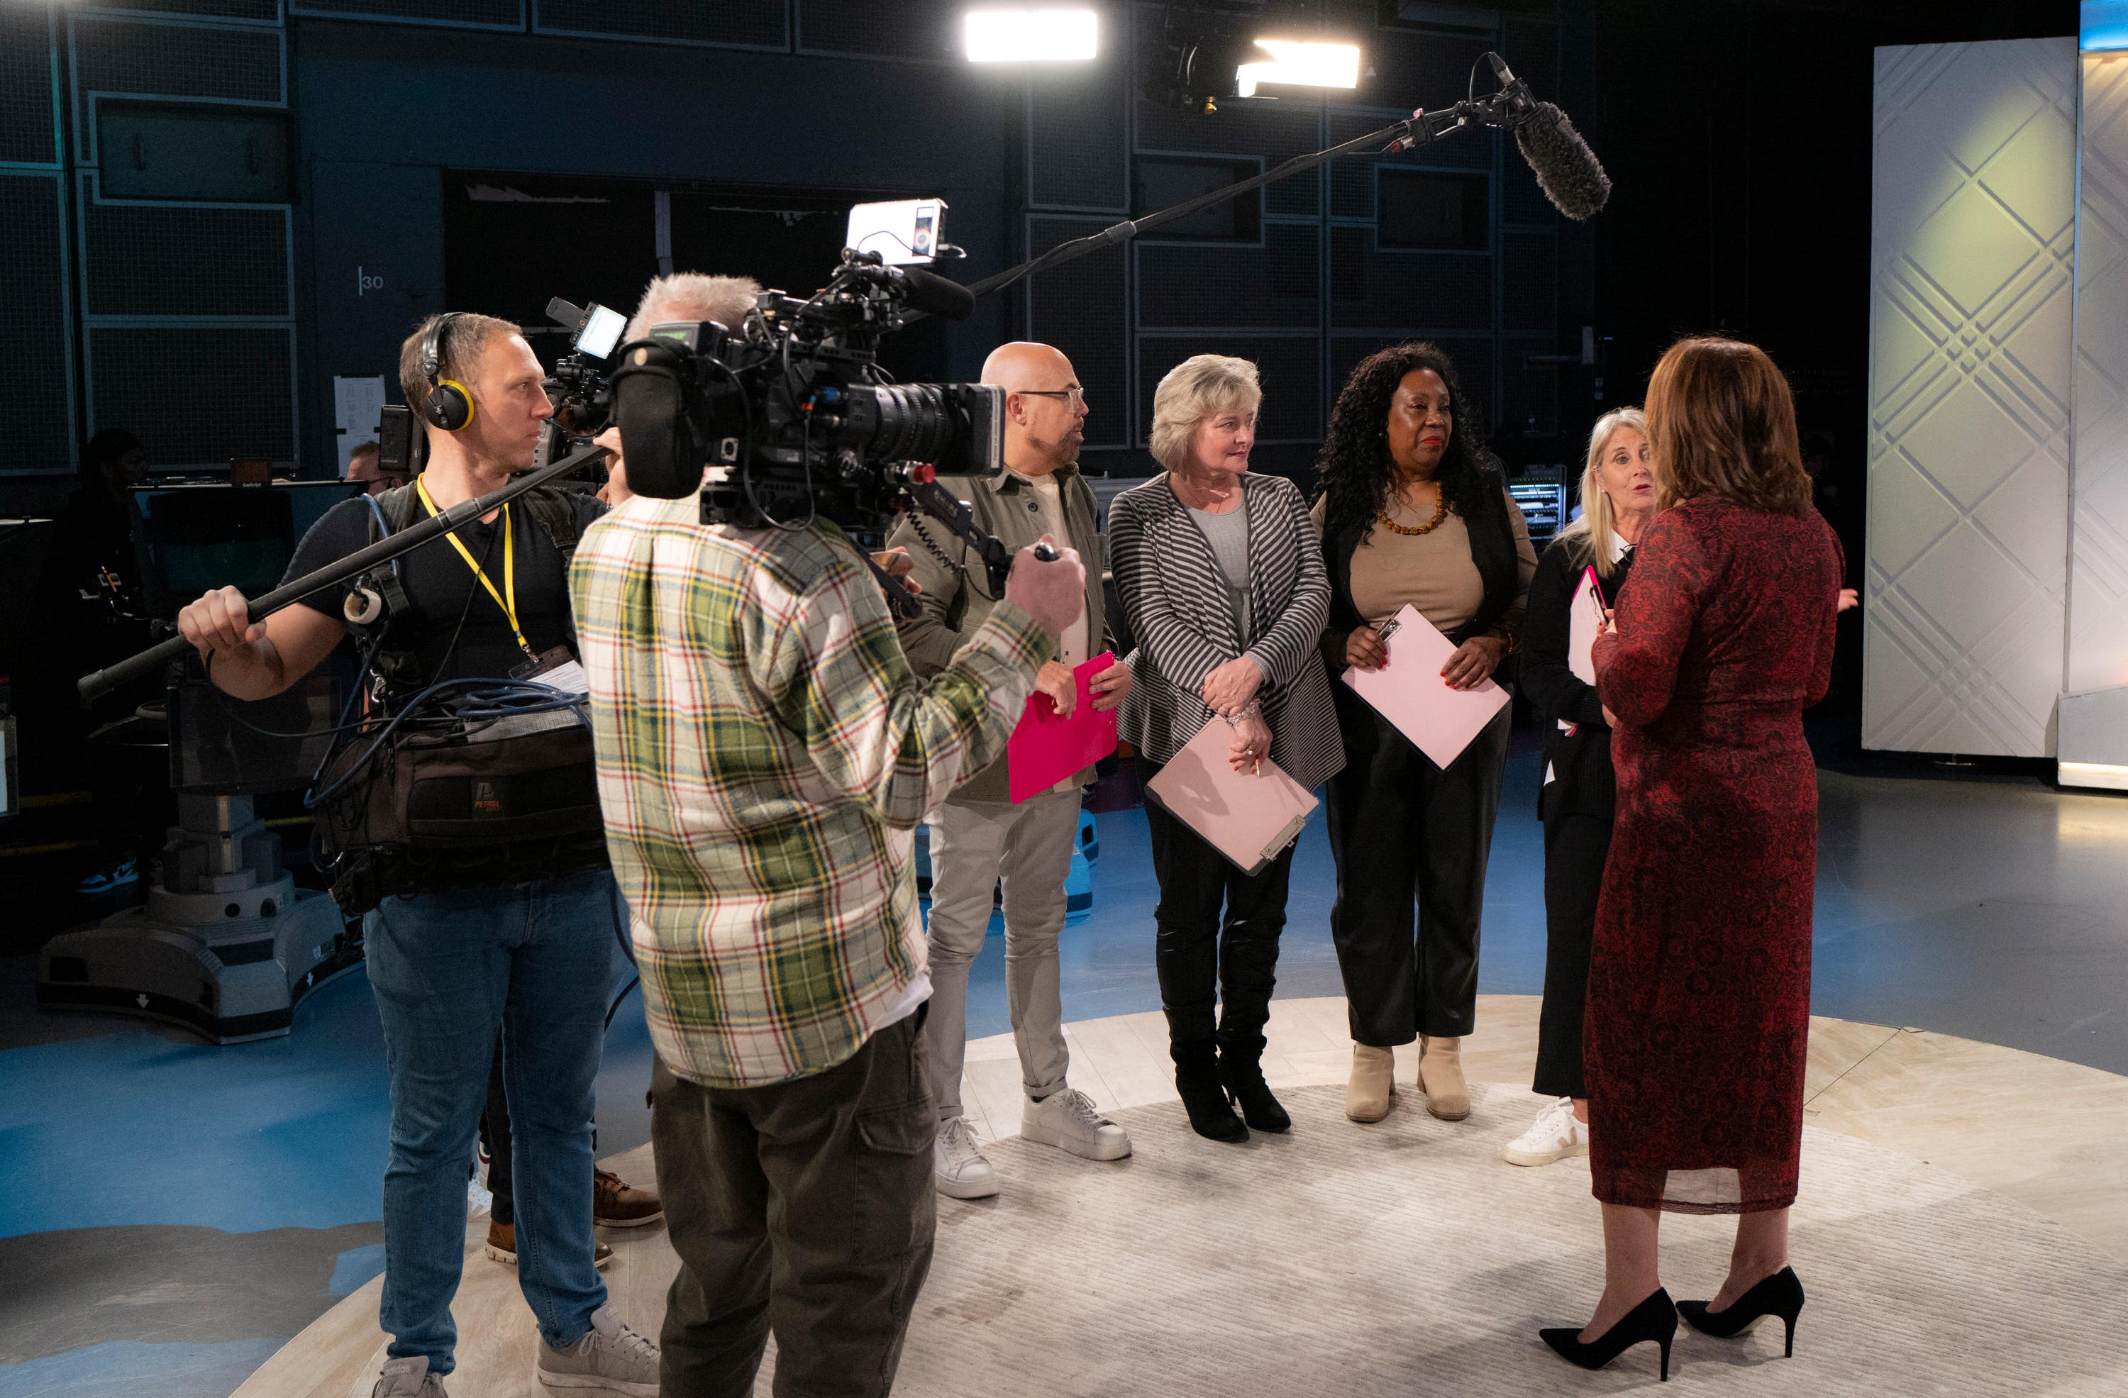
[{"label": "cameraman in plaid shirt with video camera on his shoulder", "polygon": [[772,1328],[779,1394],[883,1396],[936,1224],[913,832],[1004,753],[1085,568],[1024,549],[928,681],[832,523],[636,496],[572,589],[660,1058],[662,1389],[751,1394]]}]

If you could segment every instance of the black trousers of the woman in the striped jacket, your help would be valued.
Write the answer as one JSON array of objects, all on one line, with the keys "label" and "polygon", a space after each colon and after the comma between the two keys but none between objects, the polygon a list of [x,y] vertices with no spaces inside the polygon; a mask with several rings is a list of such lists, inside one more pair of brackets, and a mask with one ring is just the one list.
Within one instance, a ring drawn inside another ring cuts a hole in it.
[{"label": "black trousers of the woman in the striped jacket", "polygon": [[[1153,968],[1168,1013],[1168,1053],[1177,1064],[1202,1062],[1217,1045],[1228,1062],[1262,1062],[1294,849],[1287,845],[1277,860],[1245,875],[1153,802],[1145,802],[1145,826],[1160,879]],[[1217,1023],[1215,998],[1221,1000]]]}]

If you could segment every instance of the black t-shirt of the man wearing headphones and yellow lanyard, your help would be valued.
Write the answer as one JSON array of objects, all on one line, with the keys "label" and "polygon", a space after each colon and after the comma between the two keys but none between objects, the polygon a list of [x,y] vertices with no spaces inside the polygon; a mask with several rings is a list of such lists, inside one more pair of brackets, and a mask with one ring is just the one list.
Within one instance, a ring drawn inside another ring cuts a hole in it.
[{"label": "black t-shirt of the man wearing headphones and yellow lanyard", "polygon": [[[596,496],[570,494],[570,509],[577,513],[577,532],[606,513]],[[411,521],[426,519],[428,511],[419,502]],[[296,557],[287,564],[294,581],[304,572],[338,562],[349,553],[383,538],[366,500],[343,500],[311,526],[311,532],[296,545]],[[458,538],[472,553],[475,562],[496,585],[502,585],[502,515],[494,523],[468,523],[458,530]],[[562,572],[562,555],[547,538],[547,530],[532,517],[530,504],[519,498],[509,506],[511,538],[517,553],[517,621],[534,653],[545,653],[555,645],[575,647],[575,626],[568,615],[568,579]],[[392,564],[385,564],[389,568]],[[392,619],[389,649],[413,651],[421,666],[423,683],[438,679],[502,679],[526,664],[526,653],[511,634],[502,606],[487,596],[487,587],[472,577],[464,553],[451,540],[436,536],[411,553],[398,557],[400,585],[406,589],[411,611]],[[302,604],[334,619],[345,613],[340,604],[353,592],[353,581],[332,592],[306,598]]]}]

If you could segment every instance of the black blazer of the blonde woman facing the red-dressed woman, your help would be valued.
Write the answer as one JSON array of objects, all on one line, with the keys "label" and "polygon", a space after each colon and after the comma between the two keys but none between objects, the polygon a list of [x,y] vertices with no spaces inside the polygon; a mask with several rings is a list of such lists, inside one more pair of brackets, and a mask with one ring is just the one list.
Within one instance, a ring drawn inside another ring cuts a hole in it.
[{"label": "black blazer of the blonde woman facing the red-dressed woman", "polygon": [[[1545,766],[1553,781],[1536,792],[1536,815],[1547,823],[1562,815],[1594,815],[1613,819],[1617,813],[1617,777],[1611,770],[1611,726],[1602,721],[1602,700],[1596,685],[1585,683],[1566,664],[1566,638],[1573,634],[1568,606],[1585,566],[1575,540],[1556,538],[1536,560],[1530,579],[1530,611],[1522,617],[1522,692],[1530,696],[1545,734]],[[1617,560],[1602,579],[1605,600],[1617,606],[1617,594],[1632,570],[1632,551]],[[1568,736],[1560,719],[1579,728]]]}]

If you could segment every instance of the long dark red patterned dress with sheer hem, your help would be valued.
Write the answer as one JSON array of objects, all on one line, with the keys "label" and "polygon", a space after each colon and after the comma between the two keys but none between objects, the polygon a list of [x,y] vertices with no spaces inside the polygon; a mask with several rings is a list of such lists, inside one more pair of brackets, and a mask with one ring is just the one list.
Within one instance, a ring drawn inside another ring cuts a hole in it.
[{"label": "long dark red patterned dress with sheer hem", "polygon": [[1632,553],[1596,692],[1617,830],[1590,960],[1590,1175],[1607,1204],[1785,1209],[1802,1149],[1817,772],[1841,545],[1711,496]]}]

